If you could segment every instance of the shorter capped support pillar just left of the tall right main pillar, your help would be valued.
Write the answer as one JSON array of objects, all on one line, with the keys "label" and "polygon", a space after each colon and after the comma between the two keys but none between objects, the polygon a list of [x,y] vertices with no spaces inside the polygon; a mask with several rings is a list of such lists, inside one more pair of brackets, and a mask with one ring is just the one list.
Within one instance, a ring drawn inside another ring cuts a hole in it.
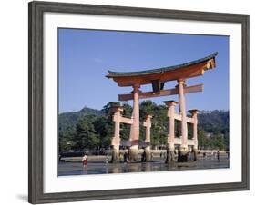
[{"label": "shorter capped support pillar just left of the tall right main pillar", "polygon": [[175,106],[178,102],[175,101],[165,101],[165,104],[168,106],[168,138],[167,138],[167,159],[166,163],[171,163],[175,161],[175,146],[174,146],[174,138],[175,138]]}]

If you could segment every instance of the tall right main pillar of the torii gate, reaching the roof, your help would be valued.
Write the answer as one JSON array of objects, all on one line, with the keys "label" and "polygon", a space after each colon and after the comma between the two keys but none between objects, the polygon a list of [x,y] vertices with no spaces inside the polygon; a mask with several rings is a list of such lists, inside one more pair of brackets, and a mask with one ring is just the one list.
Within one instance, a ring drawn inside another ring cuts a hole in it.
[{"label": "tall right main pillar of the torii gate, reaching the roof", "polygon": [[187,113],[186,113],[186,102],[184,87],[185,79],[178,80],[179,88],[179,114],[181,115],[181,145],[179,147],[180,159],[182,162],[188,161],[188,124],[187,124]]}]

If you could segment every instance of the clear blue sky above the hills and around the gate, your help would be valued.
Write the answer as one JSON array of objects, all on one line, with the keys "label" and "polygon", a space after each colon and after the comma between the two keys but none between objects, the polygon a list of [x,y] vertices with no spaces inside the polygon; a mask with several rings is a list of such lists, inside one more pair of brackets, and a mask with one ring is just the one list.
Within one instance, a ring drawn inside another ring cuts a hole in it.
[{"label": "clear blue sky above the hills and around the gate", "polygon": [[[187,110],[229,110],[229,36],[59,29],[59,112],[79,111],[85,106],[102,109],[108,102],[118,101],[118,94],[130,93],[130,87],[118,87],[105,77],[108,70],[166,67],[214,52],[219,53],[216,68],[187,80],[187,85],[204,83],[202,93],[186,94]],[[176,84],[166,83],[165,89]],[[151,85],[140,88],[151,89]],[[178,96],[151,100],[161,104],[177,101]]]}]

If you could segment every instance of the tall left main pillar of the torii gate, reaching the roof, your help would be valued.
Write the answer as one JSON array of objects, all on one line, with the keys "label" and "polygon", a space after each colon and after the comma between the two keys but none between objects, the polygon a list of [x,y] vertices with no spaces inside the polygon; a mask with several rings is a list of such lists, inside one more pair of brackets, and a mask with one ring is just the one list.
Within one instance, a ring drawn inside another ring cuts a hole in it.
[{"label": "tall left main pillar of the torii gate, reaching the roof", "polygon": [[139,139],[139,84],[133,85],[133,112],[132,112],[132,119],[133,123],[130,127],[129,133],[129,141],[130,141],[130,148],[129,148],[129,160],[130,161],[137,161],[138,158],[138,139]]}]

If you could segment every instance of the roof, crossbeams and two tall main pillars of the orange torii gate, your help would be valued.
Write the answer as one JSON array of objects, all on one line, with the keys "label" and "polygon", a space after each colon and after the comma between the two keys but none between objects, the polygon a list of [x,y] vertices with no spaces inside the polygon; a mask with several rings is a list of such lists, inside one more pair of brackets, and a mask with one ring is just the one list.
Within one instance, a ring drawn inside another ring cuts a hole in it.
[{"label": "roof, crossbeams and two tall main pillars of the orange torii gate", "polygon": [[[205,71],[214,68],[217,54],[218,53],[210,54],[209,56],[189,63],[153,70],[127,73],[108,71],[106,77],[112,78],[118,83],[118,86],[133,87],[131,93],[118,95],[119,101],[133,100],[132,123],[129,135],[129,141],[131,143],[129,156],[131,159],[136,160],[138,156],[139,99],[179,94],[179,119],[181,121],[181,142],[179,151],[182,159],[184,159],[183,161],[187,161],[188,117],[186,114],[185,93],[202,92],[203,84],[187,86],[186,79],[203,75]],[[164,84],[169,81],[177,81],[178,84],[175,88],[163,90]],[[139,91],[140,85],[144,84],[152,84],[152,92],[143,93]],[[170,129],[173,129],[172,126],[169,126],[169,133],[172,132]],[[194,129],[194,131],[197,132],[196,129]],[[197,149],[197,143],[194,143],[194,149]],[[169,151],[173,151],[173,146],[169,146]]]}]

